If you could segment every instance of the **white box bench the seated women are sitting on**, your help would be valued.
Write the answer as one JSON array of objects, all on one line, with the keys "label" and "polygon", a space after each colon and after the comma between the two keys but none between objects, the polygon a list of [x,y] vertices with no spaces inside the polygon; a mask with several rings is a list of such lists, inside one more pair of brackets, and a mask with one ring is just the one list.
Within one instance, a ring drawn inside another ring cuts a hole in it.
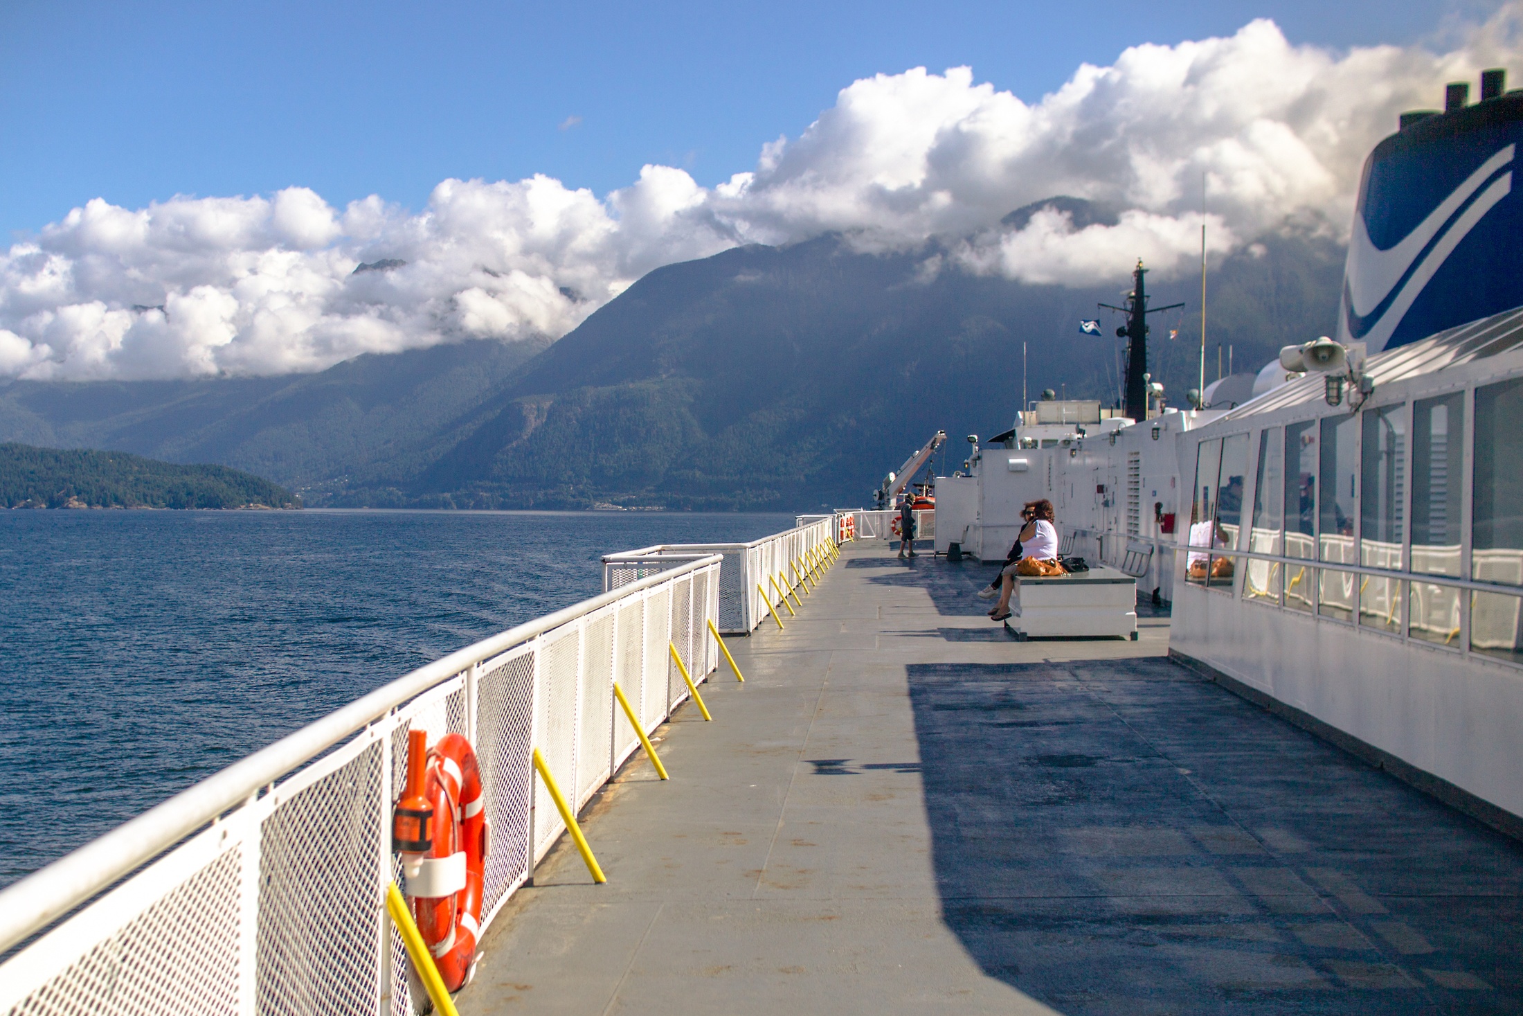
[{"label": "white box bench the seated women are sitting on", "polygon": [[[1016,609],[1014,597],[1010,603]],[[1017,640],[1116,637],[1136,641],[1138,580],[1115,568],[1020,576],[1020,612],[1005,620]]]}]

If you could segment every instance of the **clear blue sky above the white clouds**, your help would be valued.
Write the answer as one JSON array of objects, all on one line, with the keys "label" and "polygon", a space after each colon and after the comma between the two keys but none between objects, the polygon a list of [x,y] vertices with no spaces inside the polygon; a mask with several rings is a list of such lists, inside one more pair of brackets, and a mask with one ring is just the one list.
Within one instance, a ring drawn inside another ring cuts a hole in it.
[{"label": "clear blue sky above the white clouds", "polygon": [[713,186],[879,72],[969,64],[1031,102],[1083,61],[1253,17],[1346,47],[1441,38],[1494,8],[3,0],[0,235],[93,196],[143,207],[306,186],[340,207],[379,193],[417,209],[448,177],[544,172],[603,195],[644,163]]}]

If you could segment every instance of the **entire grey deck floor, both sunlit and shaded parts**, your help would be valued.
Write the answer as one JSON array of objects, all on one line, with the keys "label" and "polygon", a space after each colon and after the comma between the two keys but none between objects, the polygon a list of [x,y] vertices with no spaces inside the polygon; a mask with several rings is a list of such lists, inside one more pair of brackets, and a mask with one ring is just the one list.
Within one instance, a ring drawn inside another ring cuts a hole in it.
[{"label": "entire grey deck floor, both sunlit and shaded parts", "polygon": [[1523,1008],[1523,848],[991,565],[856,544],[484,943],[480,1013]]}]

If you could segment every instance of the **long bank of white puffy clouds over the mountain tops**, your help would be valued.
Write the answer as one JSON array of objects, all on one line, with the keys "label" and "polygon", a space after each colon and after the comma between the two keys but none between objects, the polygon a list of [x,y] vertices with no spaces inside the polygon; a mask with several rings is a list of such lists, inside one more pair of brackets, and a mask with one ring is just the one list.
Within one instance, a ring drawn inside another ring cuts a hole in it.
[{"label": "long bank of white puffy clouds over the mountain tops", "polygon": [[[340,210],[305,187],[136,210],[97,198],[0,253],[0,376],[274,375],[559,337],[652,268],[825,232],[860,251],[938,238],[928,271],[1090,285],[1141,254],[1167,277],[1197,256],[1202,175],[1218,251],[1287,224],[1345,232],[1397,113],[1480,67],[1518,69],[1520,23],[1512,6],[1445,52],[1339,53],[1260,20],[1081,65],[1034,104],[966,67],[879,75],[711,189],[646,166],[605,198],[542,175],[446,180],[417,213],[379,196]],[[999,225],[1055,193],[1118,219]]]}]

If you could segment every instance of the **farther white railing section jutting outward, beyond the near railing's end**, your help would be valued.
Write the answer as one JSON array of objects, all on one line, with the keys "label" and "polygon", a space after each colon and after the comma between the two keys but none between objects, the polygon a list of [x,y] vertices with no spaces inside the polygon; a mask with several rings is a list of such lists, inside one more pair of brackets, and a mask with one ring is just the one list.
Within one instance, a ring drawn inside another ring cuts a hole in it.
[{"label": "farther white railing section jutting outward, beyond the near railing's end", "polygon": [[726,635],[755,631],[768,617],[768,605],[781,609],[783,589],[797,585],[801,571],[833,538],[833,515],[800,519],[787,532],[754,539],[749,544],[658,544],[603,556],[603,588],[618,589],[627,582],[681,567],[693,554],[723,558],[719,577],[719,618]]}]

